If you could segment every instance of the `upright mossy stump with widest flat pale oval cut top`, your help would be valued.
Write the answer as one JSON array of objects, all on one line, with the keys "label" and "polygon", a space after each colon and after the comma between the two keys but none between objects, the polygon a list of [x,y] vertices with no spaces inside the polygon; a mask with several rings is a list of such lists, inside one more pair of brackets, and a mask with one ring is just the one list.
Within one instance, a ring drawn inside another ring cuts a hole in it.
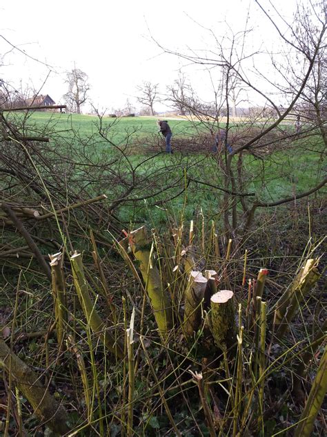
[{"label": "upright mossy stump with widest flat pale oval cut top", "polygon": [[233,296],[231,290],[220,290],[210,299],[212,336],[223,351],[226,351],[226,348],[236,340]]}]

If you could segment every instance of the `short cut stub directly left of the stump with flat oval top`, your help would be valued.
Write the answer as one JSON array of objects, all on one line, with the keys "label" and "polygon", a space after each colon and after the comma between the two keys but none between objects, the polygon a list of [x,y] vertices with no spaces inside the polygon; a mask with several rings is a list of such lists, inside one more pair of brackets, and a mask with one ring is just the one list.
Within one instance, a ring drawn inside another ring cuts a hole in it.
[{"label": "short cut stub directly left of the stump with flat oval top", "polygon": [[201,324],[201,302],[204,299],[208,279],[201,272],[190,272],[190,279],[185,291],[184,332],[192,335]]}]

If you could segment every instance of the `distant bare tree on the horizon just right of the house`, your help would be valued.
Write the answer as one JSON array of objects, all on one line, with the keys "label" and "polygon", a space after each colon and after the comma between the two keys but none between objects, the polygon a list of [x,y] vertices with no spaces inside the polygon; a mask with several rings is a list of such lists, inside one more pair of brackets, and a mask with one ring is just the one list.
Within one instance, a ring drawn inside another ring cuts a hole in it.
[{"label": "distant bare tree on the horizon just right of the house", "polygon": [[66,83],[68,84],[68,93],[63,98],[70,112],[81,113],[81,106],[88,100],[88,91],[90,84],[88,75],[79,68],[73,68],[68,71]]}]

